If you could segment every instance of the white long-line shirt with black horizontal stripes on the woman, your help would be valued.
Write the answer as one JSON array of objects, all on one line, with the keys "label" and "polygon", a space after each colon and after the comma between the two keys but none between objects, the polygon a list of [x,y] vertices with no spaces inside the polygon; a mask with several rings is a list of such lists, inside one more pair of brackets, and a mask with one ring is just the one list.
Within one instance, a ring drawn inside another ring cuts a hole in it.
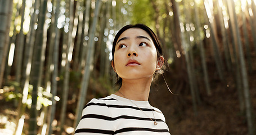
[{"label": "white long-line shirt with black horizontal stripes on the woman", "polygon": [[[152,107],[149,101],[132,102],[117,95],[93,98],[83,109],[75,135],[170,135],[164,115],[159,109]],[[149,117],[158,124],[154,125]]]}]

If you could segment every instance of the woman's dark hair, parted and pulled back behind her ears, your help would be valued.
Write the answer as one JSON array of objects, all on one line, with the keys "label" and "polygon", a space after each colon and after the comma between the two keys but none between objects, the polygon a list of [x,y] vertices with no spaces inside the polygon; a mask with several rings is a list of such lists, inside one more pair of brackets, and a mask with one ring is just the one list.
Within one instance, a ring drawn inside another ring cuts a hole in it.
[{"label": "woman's dark hair, parted and pulled back behind her ears", "polygon": [[[161,45],[160,45],[160,41],[158,39],[158,37],[156,36],[156,34],[154,33],[154,31],[152,31],[148,26],[144,25],[144,24],[134,24],[134,25],[126,25],[124,26],[122,29],[120,29],[118,31],[118,33],[115,35],[115,38],[114,38],[114,42],[113,42],[113,47],[112,47],[112,57],[113,57],[113,60],[114,61],[114,55],[115,55],[115,46],[116,46],[116,42],[118,41],[118,38],[120,37],[120,35],[127,29],[131,29],[131,28],[139,28],[139,29],[142,29],[142,30],[145,30],[147,32],[147,34],[150,35],[151,39],[153,40],[153,43],[155,45],[155,48],[156,48],[156,52],[157,52],[157,55],[158,55],[158,59],[160,56],[163,56],[163,50],[161,48]],[[166,62],[164,62],[164,64],[166,64]],[[165,65],[163,66],[162,69],[165,68]],[[158,74],[162,74],[163,73],[163,70],[160,69],[160,70],[157,70],[155,71],[155,74],[154,74],[154,78],[156,75]],[[118,74],[116,74],[116,86],[122,86],[122,78],[120,78],[118,76]]]}]

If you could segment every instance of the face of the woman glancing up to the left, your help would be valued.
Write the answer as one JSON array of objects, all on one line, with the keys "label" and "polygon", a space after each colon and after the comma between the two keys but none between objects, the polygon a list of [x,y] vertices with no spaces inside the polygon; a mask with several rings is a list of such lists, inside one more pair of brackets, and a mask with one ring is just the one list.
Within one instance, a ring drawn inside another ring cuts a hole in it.
[{"label": "face of the woman glancing up to the left", "polygon": [[125,30],[115,46],[112,66],[120,78],[152,78],[157,68],[155,45],[146,31],[140,28]]}]

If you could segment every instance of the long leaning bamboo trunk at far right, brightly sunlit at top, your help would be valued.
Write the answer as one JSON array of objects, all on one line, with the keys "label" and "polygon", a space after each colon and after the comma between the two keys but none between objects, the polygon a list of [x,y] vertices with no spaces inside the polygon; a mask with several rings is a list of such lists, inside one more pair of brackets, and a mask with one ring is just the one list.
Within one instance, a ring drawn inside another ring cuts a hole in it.
[{"label": "long leaning bamboo trunk at far right, brightly sunlit at top", "polygon": [[237,17],[236,17],[236,12],[235,12],[235,4],[233,1],[228,1],[228,10],[230,10],[230,19],[233,24],[233,28],[235,30],[235,36],[237,39],[237,49],[239,53],[239,60],[240,60],[240,66],[241,66],[241,79],[242,79],[242,86],[244,89],[244,100],[245,100],[245,107],[246,107],[246,118],[247,118],[247,124],[248,124],[248,131],[249,135],[255,134],[254,131],[254,119],[253,119],[253,110],[251,106],[251,100],[250,100],[250,91],[249,91],[249,83],[248,83],[248,75],[246,71],[246,64],[245,64],[245,59],[244,59],[244,52],[242,48],[242,43],[241,43],[241,36],[240,36],[240,31],[239,31],[239,26],[237,24]]}]

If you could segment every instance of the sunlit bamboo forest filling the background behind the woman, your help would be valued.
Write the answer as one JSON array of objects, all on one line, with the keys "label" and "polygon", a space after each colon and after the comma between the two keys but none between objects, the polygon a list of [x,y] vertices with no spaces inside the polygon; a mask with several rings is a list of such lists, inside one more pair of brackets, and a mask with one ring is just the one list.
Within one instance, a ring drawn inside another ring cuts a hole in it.
[{"label": "sunlit bamboo forest filling the background behind the woman", "polygon": [[118,91],[111,49],[128,24],[163,46],[149,102],[170,134],[255,134],[255,4],[0,0],[0,134],[74,134],[92,98]]}]

